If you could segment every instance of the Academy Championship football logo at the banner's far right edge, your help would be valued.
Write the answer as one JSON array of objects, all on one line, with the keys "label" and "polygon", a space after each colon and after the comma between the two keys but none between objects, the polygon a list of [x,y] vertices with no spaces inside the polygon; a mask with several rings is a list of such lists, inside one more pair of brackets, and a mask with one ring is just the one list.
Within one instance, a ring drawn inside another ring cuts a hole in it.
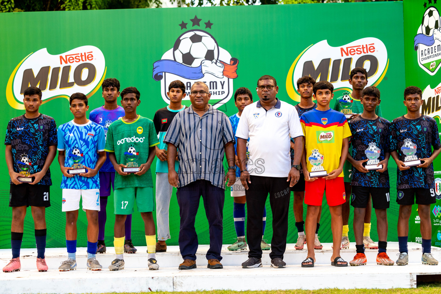
[{"label": "Academy Championship football logo at the banner's far right edge", "polygon": [[[430,3],[431,1],[429,1]],[[436,1],[434,3],[436,4]],[[441,18],[438,9],[434,6],[427,7],[422,13],[421,24],[414,38],[414,48],[417,52],[416,58],[419,67],[430,75],[437,73],[441,63],[440,24]]]}]

